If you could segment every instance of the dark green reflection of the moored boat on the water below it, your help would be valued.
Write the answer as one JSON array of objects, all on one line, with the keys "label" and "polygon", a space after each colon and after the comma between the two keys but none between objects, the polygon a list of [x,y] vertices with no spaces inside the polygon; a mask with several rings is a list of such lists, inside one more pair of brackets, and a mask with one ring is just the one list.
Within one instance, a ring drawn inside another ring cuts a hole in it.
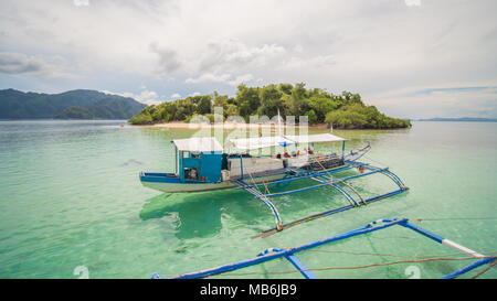
[{"label": "dark green reflection of the moored boat on the water below it", "polygon": [[[293,190],[306,185],[305,180],[297,182],[286,189]],[[272,192],[276,191],[279,190],[272,190]],[[316,193],[318,194],[316,195]],[[321,205],[322,208],[322,206],[345,204],[341,195],[330,192],[326,187],[304,192],[302,198],[281,196],[273,201],[284,218],[295,219],[295,216],[302,217],[309,214],[311,206],[309,206],[308,196],[311,194],[314,196],[313,206]],[[338,203],[329,200],[337,196]],[[256,234],[274,226],[273,215],[262,202],[245,191],[234,189],[200,193],[163,193],[147,200],[139,216],[142,221],[169,217],[170,222],[168,223],[176,229],[175,236],[181,240],[213,237],[219,235],[223,227],[226,230],[253,228]]]}]

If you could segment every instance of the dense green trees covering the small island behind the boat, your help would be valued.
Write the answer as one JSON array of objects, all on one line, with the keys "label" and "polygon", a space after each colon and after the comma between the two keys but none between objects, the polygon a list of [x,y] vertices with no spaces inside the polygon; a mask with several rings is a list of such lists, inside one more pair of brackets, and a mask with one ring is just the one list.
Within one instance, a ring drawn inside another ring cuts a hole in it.
[{"label": "dense green trees covering the small island behind the boat", "polygon": [[343,129],[391,129],[411,127],[409,120],[388,117],[374,106],[367,106],[359,94],[343,92],[334,95],[324,89],[306,89],[304,83],[279,84],[264,87],[240,85],[235,97],[219,95],[190,96],[144,108],[129,119],[133,125],[170,121],[190,121],[197,115],[214,119],[213,108],[222,107],[224,118],[242,116],[307,116],[310,125],[331,123]]}]

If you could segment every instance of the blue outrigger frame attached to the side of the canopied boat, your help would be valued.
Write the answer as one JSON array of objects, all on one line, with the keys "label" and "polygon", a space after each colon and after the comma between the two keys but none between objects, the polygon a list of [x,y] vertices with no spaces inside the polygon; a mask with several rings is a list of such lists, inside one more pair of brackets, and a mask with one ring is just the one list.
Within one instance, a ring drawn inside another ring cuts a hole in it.
[{"label": "blue outrigger frame attached to the side of the canopied boat", "polygon": [[[311,170],[304,170],[304,169],[296,169],[296,170],[287,169],[287,173],[285,174],[285,176],[282,180],[272,181],[272,182],[267,182],[267,183],[248,184],[245,181],[243,181],[243,179],[232,180],[232,183],[234,183],[239,189],[243,189],[246,192],[254,195],[255,197],[257,197],[258,200],[261,200],[271,209],[271,212],[274,216],[276,226],[273,228],[263,230],[261,234],[253,236],[253,238],[267,237],[269,235],[273,235],[283,229],[296,226],[298,224],[309,222],[309,221],[313,221],[316,218],[325,217],[328,215],[332,215],[332,214],[336,214],[339,212],[343,212],[343,211],[347,211],[347,209],[350,209],[350,208],[353,208],[357,206],[368,205],[370,203],[400,194],[400,193],[409,190],[409,187],[405,186],[405,184],[402,182],[402,180],[396,174],[391,172],[388,168],[383,168],[383,169],[377,168],[377,166],[372,166],[368,163],[361,163],[361,162],[356,162],[356,161],[343,161],[343,163],[345,163],[345,165],[336,168],[334,170],[322,170],[322,171],[311,171]],[[353,168],[368,170],[368,172],[349,175],[349,176],[345,176],[345,178],[337,178],[337,179],[331,178],[331,175],[334,173],[346,171],[346,170],[351,170]],[[387,175],[390,180],[392,180],[399,186],[399,189],[388,192],[388,193],[384,193],[384,194],[373,196],[373,197],[363,198],[357,190],[355,190],[352,186],[350,186],[348,183],[346,183],[346,181],[361,178],[361,176],[371,175],[374,173],[381,173],[381,174]],[[310,186],[306,186],[306,187],[302,187],[302,189],[297,189],[297,190],[276,192],[276,193],[266,193],[266,194],[263,194],[261,191],[257,190],[257,187],[260,187],[260,186],[267,187],[269,185],[278,186],[282,184],[286,187],[286,185],[288,185],[290,182],[297,181],[297,180],[304,180],[304,179],[311,179],[319,183],[316,185],[310,185]],[[343,184],[343,185],[340,186],[340,184]],[[321,213],[313,214],[313,215],[309,215],[309,216],[284,224],[276,206],[269,201],[271,197],[287,195],[287,194],[308,191],[308,190],[314,190],[314,189],[318,189],[318,187],[322,187],[322,186],[335,187],[338,192],[343,194],[343,196],[347,198],[347,201],[350,204],[338,207],[338,208],[325,211]],[[352,193],[347,192],[346,187],[348,190],[350,190]],[[352,196],[352,194],[356,194],[359,197],[359,200],[355,198]]]}]

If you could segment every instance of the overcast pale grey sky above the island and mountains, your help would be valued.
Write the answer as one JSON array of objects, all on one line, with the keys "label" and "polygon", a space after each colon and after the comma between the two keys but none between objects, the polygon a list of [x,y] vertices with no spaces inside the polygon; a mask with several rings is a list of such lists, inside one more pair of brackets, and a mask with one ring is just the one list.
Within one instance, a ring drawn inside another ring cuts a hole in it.
[{"label": "overcast pale grey sky above the island and mountains", "polygon": [[163,101],[304,82],[395,117],[497,117],[496,0],[1,0],[0,88]]}]

